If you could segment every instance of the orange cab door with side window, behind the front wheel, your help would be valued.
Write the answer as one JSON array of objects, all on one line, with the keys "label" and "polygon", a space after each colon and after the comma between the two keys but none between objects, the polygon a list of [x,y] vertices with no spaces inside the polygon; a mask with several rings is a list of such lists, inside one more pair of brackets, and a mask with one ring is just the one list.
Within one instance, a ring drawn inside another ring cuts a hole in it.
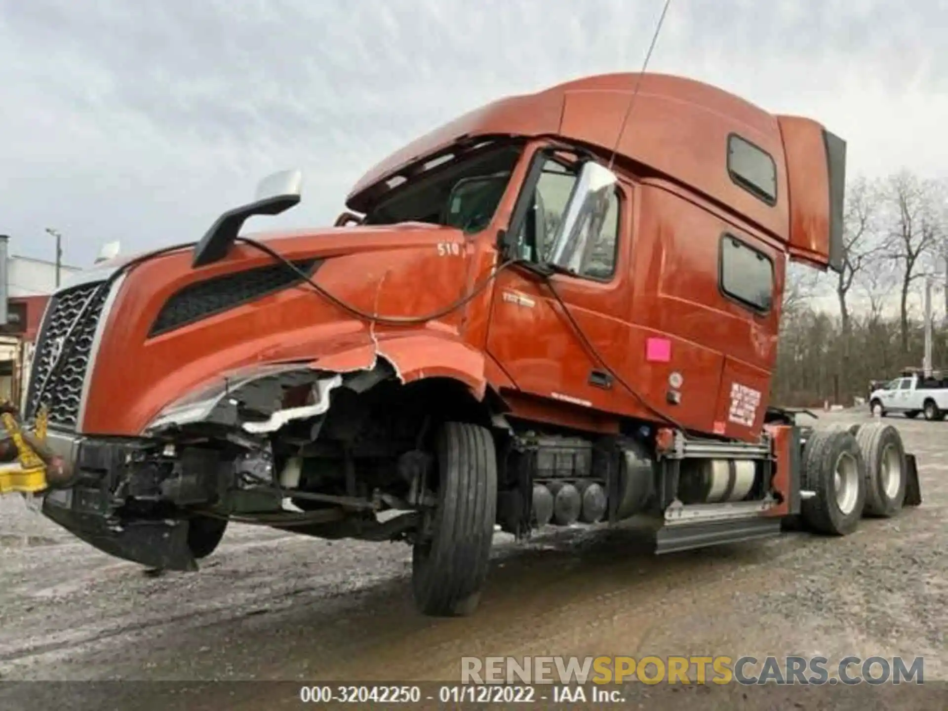
[{"label": "orange cab door with side window, behind the front wheel", "polygon": [[621,372],[628,360],[629,187],[608,192],[604,216],[574,243],[573,273],[552,274],[547,283],[529,269],[552,256],[577,190],[575,158],[552,150],[533,158],[508,230],[527,264],[503,270],[495,282],[487,351],[523,392],[612,410],[618,386],[610,371]]}]

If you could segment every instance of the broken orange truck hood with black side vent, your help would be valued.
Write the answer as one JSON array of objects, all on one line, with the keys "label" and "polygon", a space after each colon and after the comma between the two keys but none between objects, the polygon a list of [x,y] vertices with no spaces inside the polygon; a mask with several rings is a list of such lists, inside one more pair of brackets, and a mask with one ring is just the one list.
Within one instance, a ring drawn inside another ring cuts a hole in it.
[{"label": "broken orange truck hood with black side vent", "polygon": [[[101,316],[83,433],[140,436],[190,419],[186,412],[209,404],[198,392],[216,388],[222,374],[288,363],[332,378],[372,372],[384,358],[403,382],[441,373],[483,394],[483,356],[464,342],[464,309],[449,308],[475,276],[473,247],[460,230],[402,224],[252,238],[308,279],[240,243],[226,259],[197,269],[187,249],[156,255],[117,283],[111,311]],[[96,278],[110,268],[118,264],[100,264]],[[410,322],[439,311],[438,319]],[[387,325],[371,315],[409,322]],[[335,387],[326,383],[326,392]],[[285,416],[257,425],[256,433]]]}]

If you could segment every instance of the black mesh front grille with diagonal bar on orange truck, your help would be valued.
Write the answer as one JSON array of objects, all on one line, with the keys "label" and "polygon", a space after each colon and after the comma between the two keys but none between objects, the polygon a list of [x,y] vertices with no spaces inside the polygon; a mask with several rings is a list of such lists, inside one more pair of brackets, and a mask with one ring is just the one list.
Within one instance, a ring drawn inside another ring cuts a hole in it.
[{"label": "black mesh front grille with diagonal bar on orange truck", "polygon": [[[35,416],[42,402],[46,404],[50,425],[75,429],[79,424],[82,383],[89,367],[92,341],[99,325],[102,306],[109,292],[108,288],[100,288],[101,284],[96,282],[74,286],[50,299],[36,351],[33,353],[27,417]],[[64,343],[64,337],[90,298],[92,302],[73,329],[69,343]],[[59,358],[60,353],[65,355]],[[60,363],[56,372],[50,376],[57,359]],[[47,378],[46,389],[41,398],[40,389]]]}]

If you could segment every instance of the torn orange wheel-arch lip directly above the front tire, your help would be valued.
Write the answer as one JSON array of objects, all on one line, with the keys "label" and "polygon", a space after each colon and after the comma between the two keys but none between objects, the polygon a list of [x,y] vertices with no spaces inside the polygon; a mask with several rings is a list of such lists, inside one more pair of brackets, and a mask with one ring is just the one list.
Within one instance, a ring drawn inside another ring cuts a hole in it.
[{"label": "torn orange wheel-arch lip directly above the front tire", "polygon": [[310,366],[320,371],[352,373],[371,370],[378,357],[392,364],[402,383],[424,377],[449,377],[464,383],[479,400],[487,390],[488,379],[501,377],[500,369],[483,352],[456,338],[434,334],[379,338],[374,343],[319,357]]}]

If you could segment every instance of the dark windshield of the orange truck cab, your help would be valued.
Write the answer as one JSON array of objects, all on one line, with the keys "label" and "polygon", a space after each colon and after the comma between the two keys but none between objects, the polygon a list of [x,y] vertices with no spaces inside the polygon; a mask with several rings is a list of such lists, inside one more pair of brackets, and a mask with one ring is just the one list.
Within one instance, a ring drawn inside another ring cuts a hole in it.
[{"label": "dark windshield of the orange truck cab", "polygon": [[478,232],[494,217],[519,158],[519,146],[502,146],[442,162],[392,188],[364,224],[427,222]]}]

